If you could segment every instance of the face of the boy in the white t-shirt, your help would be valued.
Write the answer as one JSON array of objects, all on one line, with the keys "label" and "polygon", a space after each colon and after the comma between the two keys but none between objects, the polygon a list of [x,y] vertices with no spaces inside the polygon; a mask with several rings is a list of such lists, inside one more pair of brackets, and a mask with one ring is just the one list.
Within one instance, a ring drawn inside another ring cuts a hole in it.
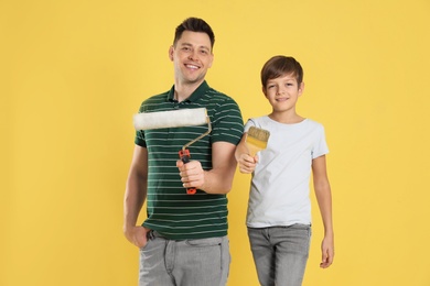
[{"label": "face of the boy in the white t-shirt", "polygon": [[273,79],[269,79],[266,87],[262,87],[262,92],[269,100],[273,111],[295,110],[298,98],[302,95],[304,84],[297,82],[293,75],[283,75]]}]

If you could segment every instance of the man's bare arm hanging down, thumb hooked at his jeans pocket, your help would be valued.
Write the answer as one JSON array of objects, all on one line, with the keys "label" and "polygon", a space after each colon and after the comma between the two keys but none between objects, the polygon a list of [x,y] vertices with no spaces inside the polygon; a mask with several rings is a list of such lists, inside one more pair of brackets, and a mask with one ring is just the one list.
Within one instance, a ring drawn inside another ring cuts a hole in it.
[{"label": "man's bare arm hanging down, thumb hooked at his jeans pocket", "polygon": [[123,198],[123,233],[136,246],[147,243],[147,229],[136,226],[147,198],[148,152],[136,145]]}]

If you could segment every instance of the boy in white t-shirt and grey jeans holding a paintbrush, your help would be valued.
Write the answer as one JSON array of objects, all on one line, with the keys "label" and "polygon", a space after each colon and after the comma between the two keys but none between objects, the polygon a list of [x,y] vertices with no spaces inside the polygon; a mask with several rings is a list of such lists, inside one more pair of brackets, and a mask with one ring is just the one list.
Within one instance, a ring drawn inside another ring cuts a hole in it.
[{"label": "boy in white t-shirt and grey jeans holding a paintbrush", "polygon": [[270,58],[261,69],[261,84],[272,112],[249,119],[245,131],[250,127],[268,130],[267,148],[250,156],[245,133],[235,153],[240,173],[252,174],[248,237],[262,286],[299,286],[311,238],[311,170],[325,230],[320,266],[326,268],[333,262],[332,199],[325,164],[329,150],[324,128],[295,112],[304,88],[300,63],[287,56]]}]

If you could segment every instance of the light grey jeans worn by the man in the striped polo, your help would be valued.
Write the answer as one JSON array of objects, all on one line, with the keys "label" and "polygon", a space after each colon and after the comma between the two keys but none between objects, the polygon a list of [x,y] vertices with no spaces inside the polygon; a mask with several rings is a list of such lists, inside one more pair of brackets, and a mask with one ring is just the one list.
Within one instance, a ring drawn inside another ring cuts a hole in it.
[{"label": "light grey jeans worn by the man in the striped polo", "polygon": [[227,237],[166,240],[150,231],[140,250],[139,286],[224,286],[230,254]]}]

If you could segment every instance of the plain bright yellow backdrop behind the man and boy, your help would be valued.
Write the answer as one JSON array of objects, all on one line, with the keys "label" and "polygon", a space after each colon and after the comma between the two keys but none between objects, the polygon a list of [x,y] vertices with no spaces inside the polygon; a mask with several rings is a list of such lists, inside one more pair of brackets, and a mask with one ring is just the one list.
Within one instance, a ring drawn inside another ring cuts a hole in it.
[{"label": "plain bright yellow backdrop behind the man and boy", "polygon": [[[0,285],[136,285],[121,232],[131,118],[173,84],[168,48],[191,15],[215,31],[208,84],[245,120],[270,111],[269,57],[304,67],[298,111],[326,128],[336,240],[320,270],[314,205],[304,285],[429,286],[428,0],[0,1]],[[228,196],[232,286],[258,285],[248,179]]]}]

